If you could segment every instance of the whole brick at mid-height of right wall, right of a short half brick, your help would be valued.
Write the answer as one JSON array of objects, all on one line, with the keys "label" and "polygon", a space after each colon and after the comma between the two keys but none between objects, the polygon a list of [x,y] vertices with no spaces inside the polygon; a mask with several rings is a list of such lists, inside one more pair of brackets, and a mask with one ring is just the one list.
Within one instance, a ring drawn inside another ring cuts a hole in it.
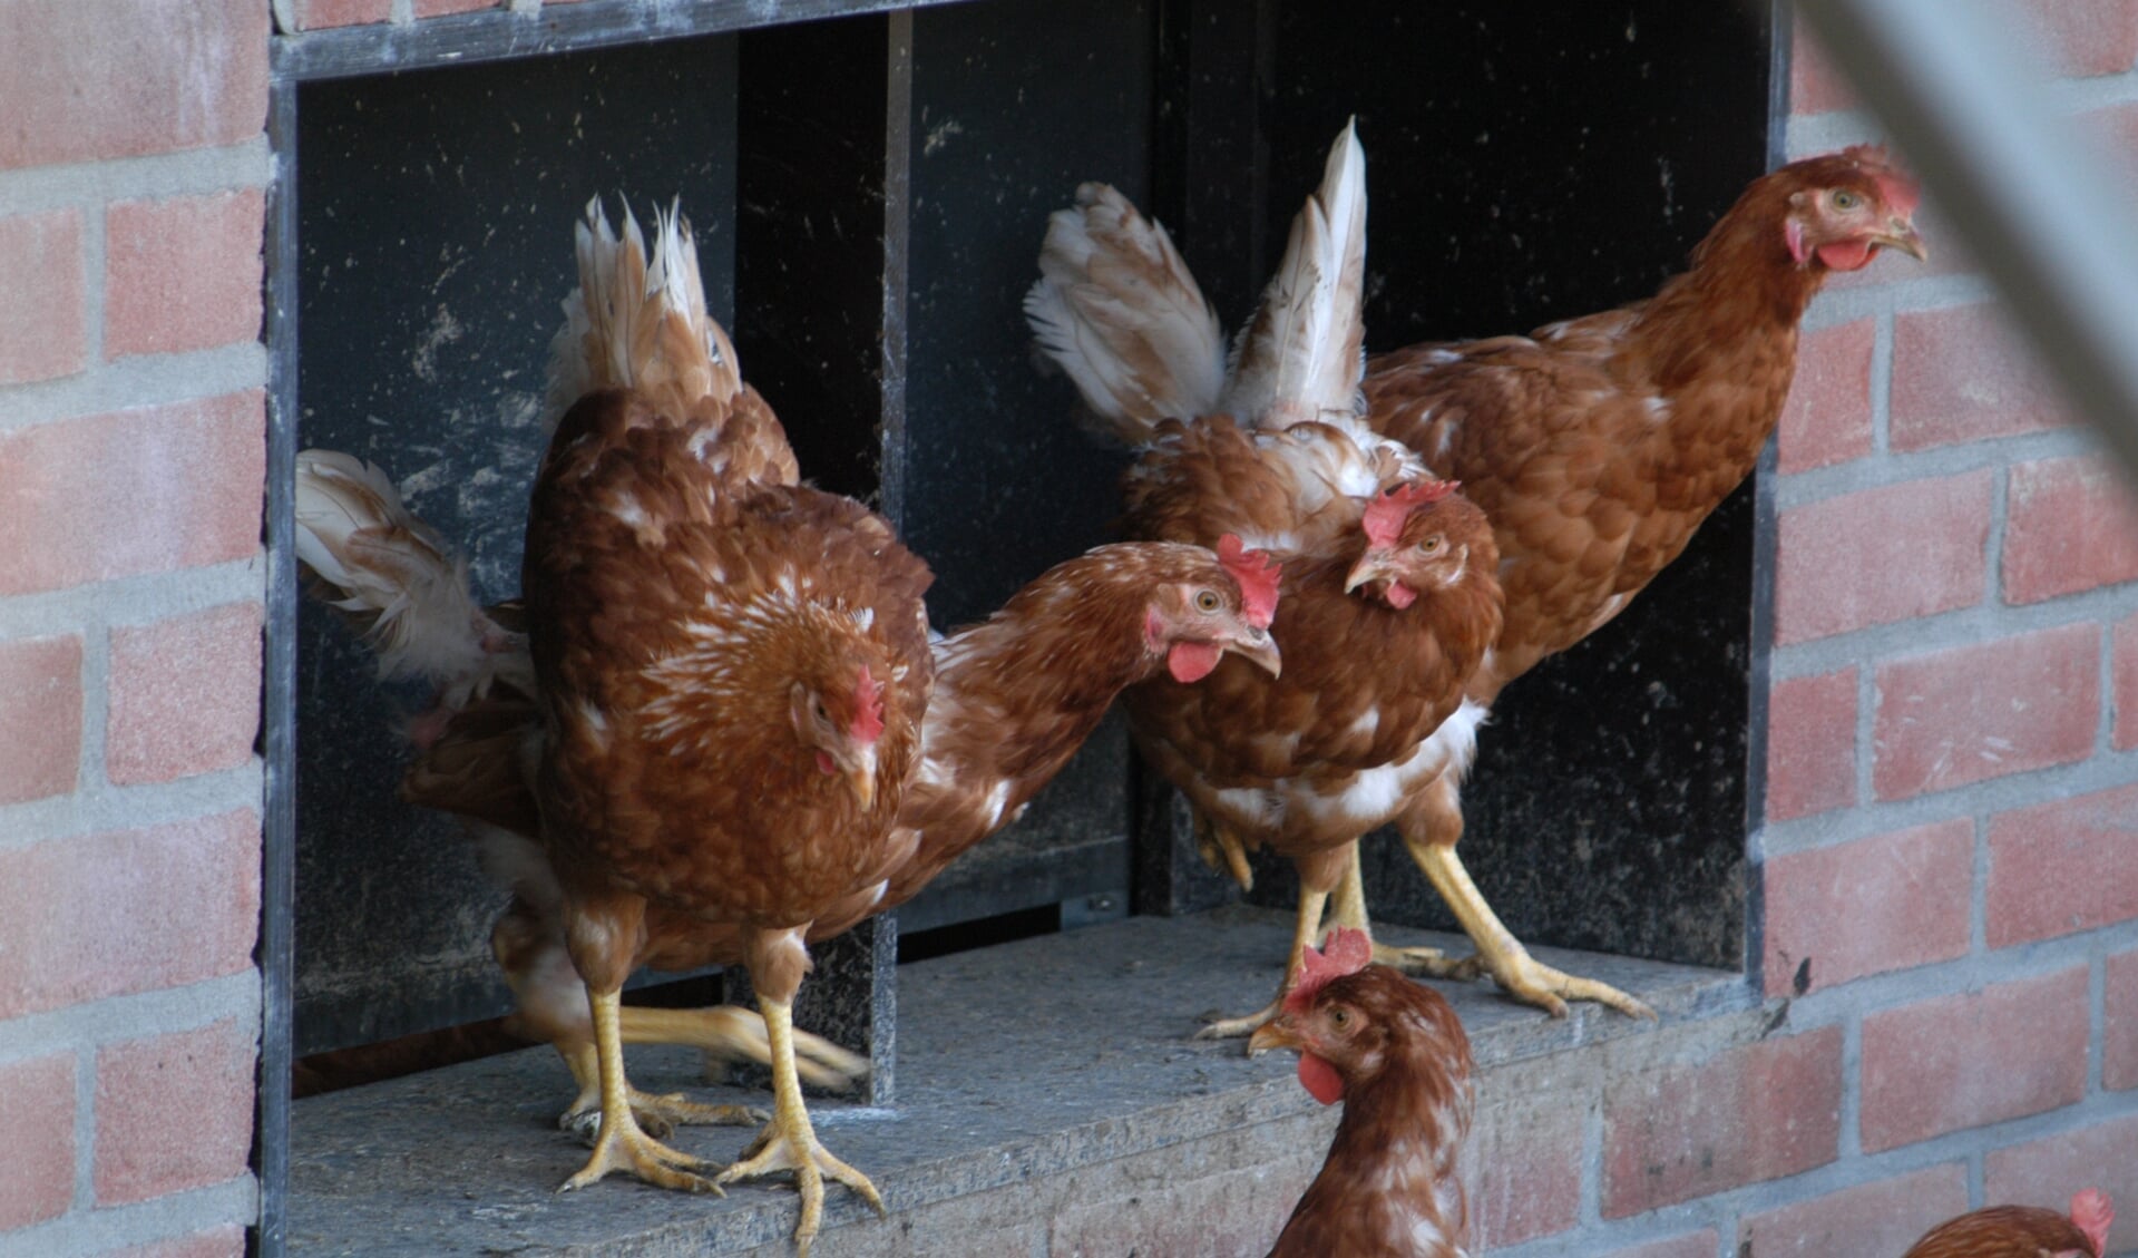
[{"label": "whole brick at mid-height of right wall, right of a short half brick", "polygon": [[1881,663],[1871,785],[1881,800],[2072,764],[2102,712],[2100,625]]}]

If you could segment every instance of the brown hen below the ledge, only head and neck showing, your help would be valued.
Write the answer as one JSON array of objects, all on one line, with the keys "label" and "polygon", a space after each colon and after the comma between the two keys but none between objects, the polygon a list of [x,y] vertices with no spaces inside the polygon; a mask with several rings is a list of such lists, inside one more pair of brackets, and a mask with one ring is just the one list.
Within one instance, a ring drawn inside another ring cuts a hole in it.
[{"label": "brown hen below the ledge, only head and neck showing", "polygon": [[1469,1207],[1456,1160],[1471,1125],[1469,1035],[1447,999],[1385,965],[1338,926],[1306,950],[1285,1010],[1251,1053],[1291,1048],[1300,1083],[1343,1102],[1321,1172],[1270,1258],[1467,1258]]}]

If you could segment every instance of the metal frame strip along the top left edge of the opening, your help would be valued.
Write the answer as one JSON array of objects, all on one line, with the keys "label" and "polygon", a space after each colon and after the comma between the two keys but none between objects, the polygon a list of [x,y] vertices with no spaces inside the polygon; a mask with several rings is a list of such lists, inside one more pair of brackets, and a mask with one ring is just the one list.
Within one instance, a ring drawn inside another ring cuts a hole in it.
[{"label": "metal frame strip along the top left edge of the opening", "polygon": [[964,0],[584,0],[539,13],[487,9],[408,26],[372,24],[278,34],[278,79],[348,79],[393,71],[466,66],[654,39],[725,34],[789,21],[819,21],[958,4]]}]

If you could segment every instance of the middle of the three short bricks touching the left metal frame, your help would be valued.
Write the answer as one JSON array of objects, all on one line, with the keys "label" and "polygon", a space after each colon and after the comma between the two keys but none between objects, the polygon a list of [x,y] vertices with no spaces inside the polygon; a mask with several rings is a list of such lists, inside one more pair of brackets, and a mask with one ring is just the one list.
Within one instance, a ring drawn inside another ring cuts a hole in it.
[{"label": "middle of the three short bricks touching the left metal frame", "polygon": [[111,633],[105,777],[173,781],[250,760],[261,715],[261,605]]}]

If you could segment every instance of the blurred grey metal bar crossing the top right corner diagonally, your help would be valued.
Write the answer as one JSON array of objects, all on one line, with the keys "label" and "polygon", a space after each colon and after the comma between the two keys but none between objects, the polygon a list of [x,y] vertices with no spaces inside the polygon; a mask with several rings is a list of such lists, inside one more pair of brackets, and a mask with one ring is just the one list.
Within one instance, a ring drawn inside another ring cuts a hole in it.
[{"label": "blurred grey metal bar crossing the top right corner diagonally", "polygon": [[1800,0],[2065,394],[2138,475],[2132,188],[2048,113],[1973,4]]}]

